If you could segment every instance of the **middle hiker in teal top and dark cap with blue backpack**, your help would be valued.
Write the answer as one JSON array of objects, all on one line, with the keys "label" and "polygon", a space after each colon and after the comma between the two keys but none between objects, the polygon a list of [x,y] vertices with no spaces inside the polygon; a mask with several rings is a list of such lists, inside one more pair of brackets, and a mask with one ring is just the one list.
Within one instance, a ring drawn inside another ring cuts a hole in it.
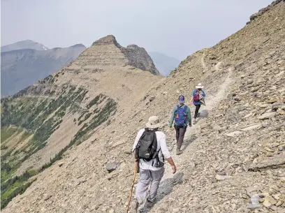
[{"label": "middle hiker in teal top and dark cap with blue backpack", "polygon": [[178,105],[175,105],[173,108],[173,113],[170,117],[169,127],[172,128],[173,120],[174,120],[174,128],[176,131],[176,154],[182,154],[182,151],[180,150],[182,146],[182,142],[184,139],[184,135],[187,129],[187,124],[189,126],[192,126],[191,123],[191,112],[190,108],[185,105],[185,98],[184,96],[179,96],[178,98]]}]

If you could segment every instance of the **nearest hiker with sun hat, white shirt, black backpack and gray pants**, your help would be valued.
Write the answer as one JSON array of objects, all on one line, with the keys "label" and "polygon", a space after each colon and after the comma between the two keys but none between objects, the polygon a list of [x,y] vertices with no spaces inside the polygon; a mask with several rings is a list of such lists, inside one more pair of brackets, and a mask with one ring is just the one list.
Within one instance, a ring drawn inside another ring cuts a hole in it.
[{"label": "nearest hiker with sun hat, white shirt, black backpack and gray pants", "polygon": [[140,170],[140,180],[136,187],[136,199],[131,203],[133,212],[136,212],[138,206],[144,202],[150,182],[146,206],[151,207],[154,204],[159,182],[164,173],[164,159],[172,166],[173,174],[176,172],[176,166],[166,145],[166,135],[159,131],[161,125],[159,117],[149,117],[146,124],[147,128],[138,131],[133,144],[133,152],[136,162],[139,163]]}]

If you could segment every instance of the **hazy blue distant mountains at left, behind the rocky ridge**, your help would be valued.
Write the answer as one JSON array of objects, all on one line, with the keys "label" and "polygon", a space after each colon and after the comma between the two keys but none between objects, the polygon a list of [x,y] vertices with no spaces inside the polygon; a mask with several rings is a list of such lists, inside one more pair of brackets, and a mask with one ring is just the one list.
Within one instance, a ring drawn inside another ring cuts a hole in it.
[{"label": "hazy blue distant mountains at left, behind the rocky ridge", "polygon": [[10,96],[76,59],[86,49],[78,44],[49,49],[31,40],[1,47],[1,96]]}]

